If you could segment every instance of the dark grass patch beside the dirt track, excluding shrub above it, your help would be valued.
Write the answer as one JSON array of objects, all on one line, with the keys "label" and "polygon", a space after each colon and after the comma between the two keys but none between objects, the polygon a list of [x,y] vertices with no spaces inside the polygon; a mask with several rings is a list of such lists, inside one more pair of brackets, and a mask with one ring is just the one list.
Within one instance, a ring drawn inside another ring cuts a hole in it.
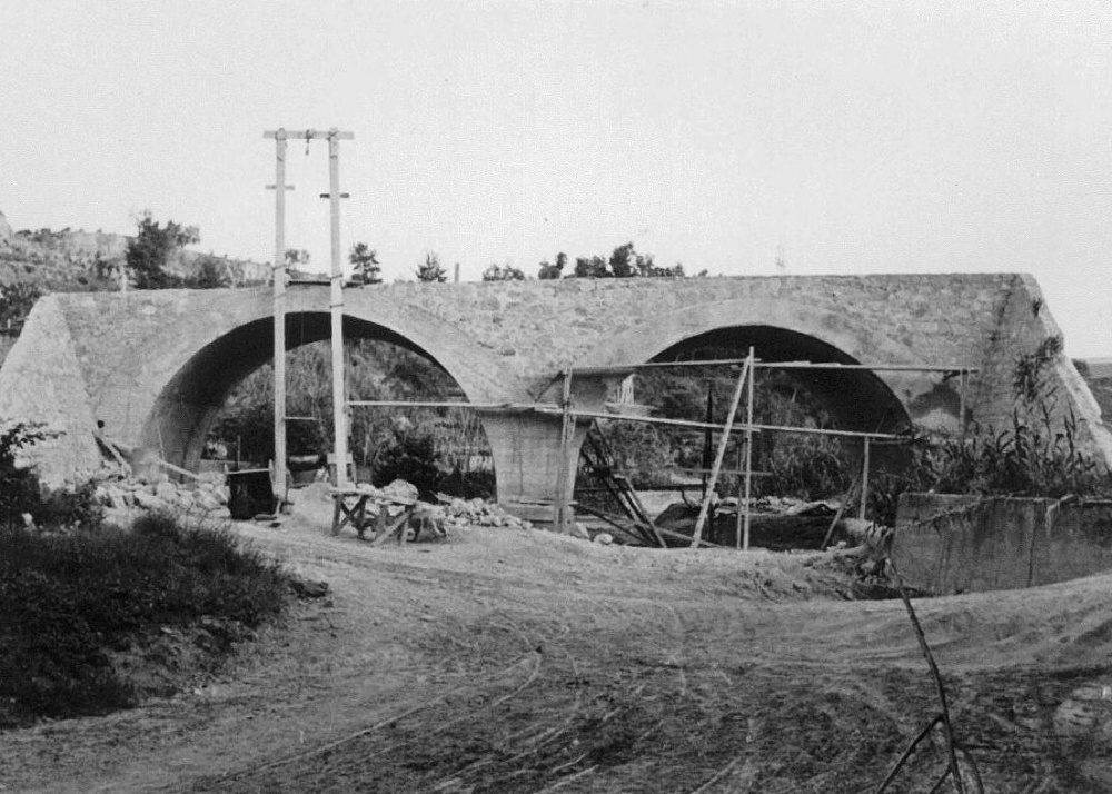
[{"label": "dark grass patch beside the dirt track, excluding shrub above it", "polygon": [[290,578],[228,530],[165,513],[126,530],[0,529],[0,727],[135,705],[122,652],[200,633],[226,656],[285,612]]}]

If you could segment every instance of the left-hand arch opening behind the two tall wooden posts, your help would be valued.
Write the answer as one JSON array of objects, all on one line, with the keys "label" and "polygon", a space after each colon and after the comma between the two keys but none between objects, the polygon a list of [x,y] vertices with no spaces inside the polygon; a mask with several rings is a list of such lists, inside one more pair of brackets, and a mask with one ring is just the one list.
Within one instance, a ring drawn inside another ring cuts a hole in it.
[{"label": "left-hand arch opening behind the two tall wooden posts", "polygon": [[[287,425],[295,469],[332,449],[327,312],[286,316]],[[145,424],[141,446],[197,470],[206,456],[266,464],[274,450],[274,324],[245,324],[193,355],[168,381]],[[380,325],[345,316],[350,399],[466,399],[441,361]],[[365,479],[409,474],[423,490],[480,495],[494,488],[489,445],[467,409],[358,408],[349,413],[349,449]],[[269,454],[269,457],[268,457]],[[309,469],[306,469],[309,470]],[[300,482],[304,477],[299,477]]]}]

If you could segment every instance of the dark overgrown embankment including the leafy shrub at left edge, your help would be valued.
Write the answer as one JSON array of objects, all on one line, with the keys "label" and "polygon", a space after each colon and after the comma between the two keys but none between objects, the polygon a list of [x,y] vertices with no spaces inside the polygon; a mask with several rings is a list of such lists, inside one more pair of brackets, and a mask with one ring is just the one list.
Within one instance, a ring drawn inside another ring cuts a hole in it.
[{"label": "dark overgrown embankment including the leafy shrub at left edge", "polygon": [[172,693],[286,612],[292,576],[226,528],[44,487],[19,463],[43,436],[0,430],[0,728]]}]

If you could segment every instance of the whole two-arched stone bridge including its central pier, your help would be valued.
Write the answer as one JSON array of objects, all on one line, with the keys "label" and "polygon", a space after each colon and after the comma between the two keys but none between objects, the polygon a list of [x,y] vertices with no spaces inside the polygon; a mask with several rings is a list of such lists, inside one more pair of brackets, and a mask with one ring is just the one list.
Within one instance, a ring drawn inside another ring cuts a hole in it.
[{"label": "whole two-arched stone bridge including its central pier", "polygon": [[[801,373],[840,426],[857,430],[955,430],[961,406],[967,421],[1003,427],[1016,359],[1059,333],[1037,285],[1015,274],[410,282],[348,289],[345,301],[346,336],[417,350],[481,404],[553,403],[563,368],[589,367],[574,398],[600,408],[623,366],[712,347],[744,355],[753,345],[766,361],[977,368],[964,396],[945,373]],[[287,322],[291,345],[327,339],[327,287],[292,287]],[[63,433],[32,456],[48,482],[98,465],[98,419],[191,468],[229,391],[271,351],[269,289],[56,294],[0,369],[0,417]],[[1048,375],[1058,415],[1072,409],[1084,440],[1112,459],[1112,436],[1071,361],[1059,355]],[[481,416],[499,500],[550,500],[559,418]]]}]

